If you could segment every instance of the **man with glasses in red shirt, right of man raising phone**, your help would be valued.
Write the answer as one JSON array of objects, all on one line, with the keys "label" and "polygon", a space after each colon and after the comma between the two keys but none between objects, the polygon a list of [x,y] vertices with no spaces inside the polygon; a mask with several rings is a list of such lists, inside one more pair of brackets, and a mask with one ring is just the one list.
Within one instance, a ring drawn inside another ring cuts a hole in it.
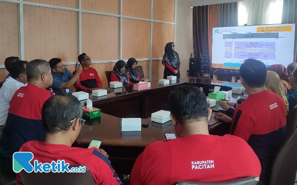
[{"label": "man with glasses in red shirt, right of man raising phone", "polygon": [[77,59],[83,67],[83,72],[79,75],[77,87],[81,90],[89,90],[97,87],[102,88],[102,82],[97,71],[90,67],[92,64],[91,58],[86,53],[83,53]]}]

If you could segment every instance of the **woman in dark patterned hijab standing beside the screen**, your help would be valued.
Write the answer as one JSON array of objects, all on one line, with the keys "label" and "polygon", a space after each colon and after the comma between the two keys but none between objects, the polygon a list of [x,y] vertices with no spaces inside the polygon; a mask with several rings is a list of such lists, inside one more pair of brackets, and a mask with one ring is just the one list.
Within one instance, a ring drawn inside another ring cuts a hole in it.
[{"label": "woman in dark patterned hijab standing beside the screen", "polygon": [[163,78],[167,76],[177,76],[180,78],[181,74],[179,71],[181,61],[179,55],[175,50],[173,42],[169,42],[165,46],[165,54],[162,59],[162,64],[165,66]]}]

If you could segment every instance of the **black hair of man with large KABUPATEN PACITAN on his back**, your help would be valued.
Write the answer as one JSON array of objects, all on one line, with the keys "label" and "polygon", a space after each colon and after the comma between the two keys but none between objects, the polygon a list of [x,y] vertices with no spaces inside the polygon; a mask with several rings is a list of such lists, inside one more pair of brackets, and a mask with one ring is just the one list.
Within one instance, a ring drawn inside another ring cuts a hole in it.
[{"label": "black hair of man with large KABUPATEN PACITAN on his back", "polygon": [[207,121],[208,106],[204,93],[196,86],[181,85],[169,94],[170,112],[180,124]]}]

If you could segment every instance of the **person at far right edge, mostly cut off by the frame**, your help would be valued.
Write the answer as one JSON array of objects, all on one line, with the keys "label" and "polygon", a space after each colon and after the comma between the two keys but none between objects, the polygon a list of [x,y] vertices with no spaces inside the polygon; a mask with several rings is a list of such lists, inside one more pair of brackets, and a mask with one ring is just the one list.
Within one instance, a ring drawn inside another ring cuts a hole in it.
[{"label": "person at far right edge, mostly cut off by the frame", "polygon": [[290,111],[297,106],[297,69],[290,76],[290,84],[292,89],[286,94],[289,102]]}]

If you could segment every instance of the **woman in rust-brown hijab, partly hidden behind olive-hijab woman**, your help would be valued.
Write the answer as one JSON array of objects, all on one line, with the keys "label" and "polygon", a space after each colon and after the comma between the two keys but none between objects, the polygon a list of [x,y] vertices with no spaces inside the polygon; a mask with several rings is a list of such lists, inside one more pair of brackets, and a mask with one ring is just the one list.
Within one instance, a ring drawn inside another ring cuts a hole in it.
[{"label": "woman in rust-brown hijab, partly hidden behind olive-hijab woman", "polygon": [[279,77],[282,81],[282,84],[283,84],[283,89],[284,89],[285,94],[288,92],[288,90],[291,89],[290,79],[289,79],[290,76],[289,76],[285,66],[283,66],[281,64],[273,64],[267,68],[267,71],[272,71],[279,75]]}]

